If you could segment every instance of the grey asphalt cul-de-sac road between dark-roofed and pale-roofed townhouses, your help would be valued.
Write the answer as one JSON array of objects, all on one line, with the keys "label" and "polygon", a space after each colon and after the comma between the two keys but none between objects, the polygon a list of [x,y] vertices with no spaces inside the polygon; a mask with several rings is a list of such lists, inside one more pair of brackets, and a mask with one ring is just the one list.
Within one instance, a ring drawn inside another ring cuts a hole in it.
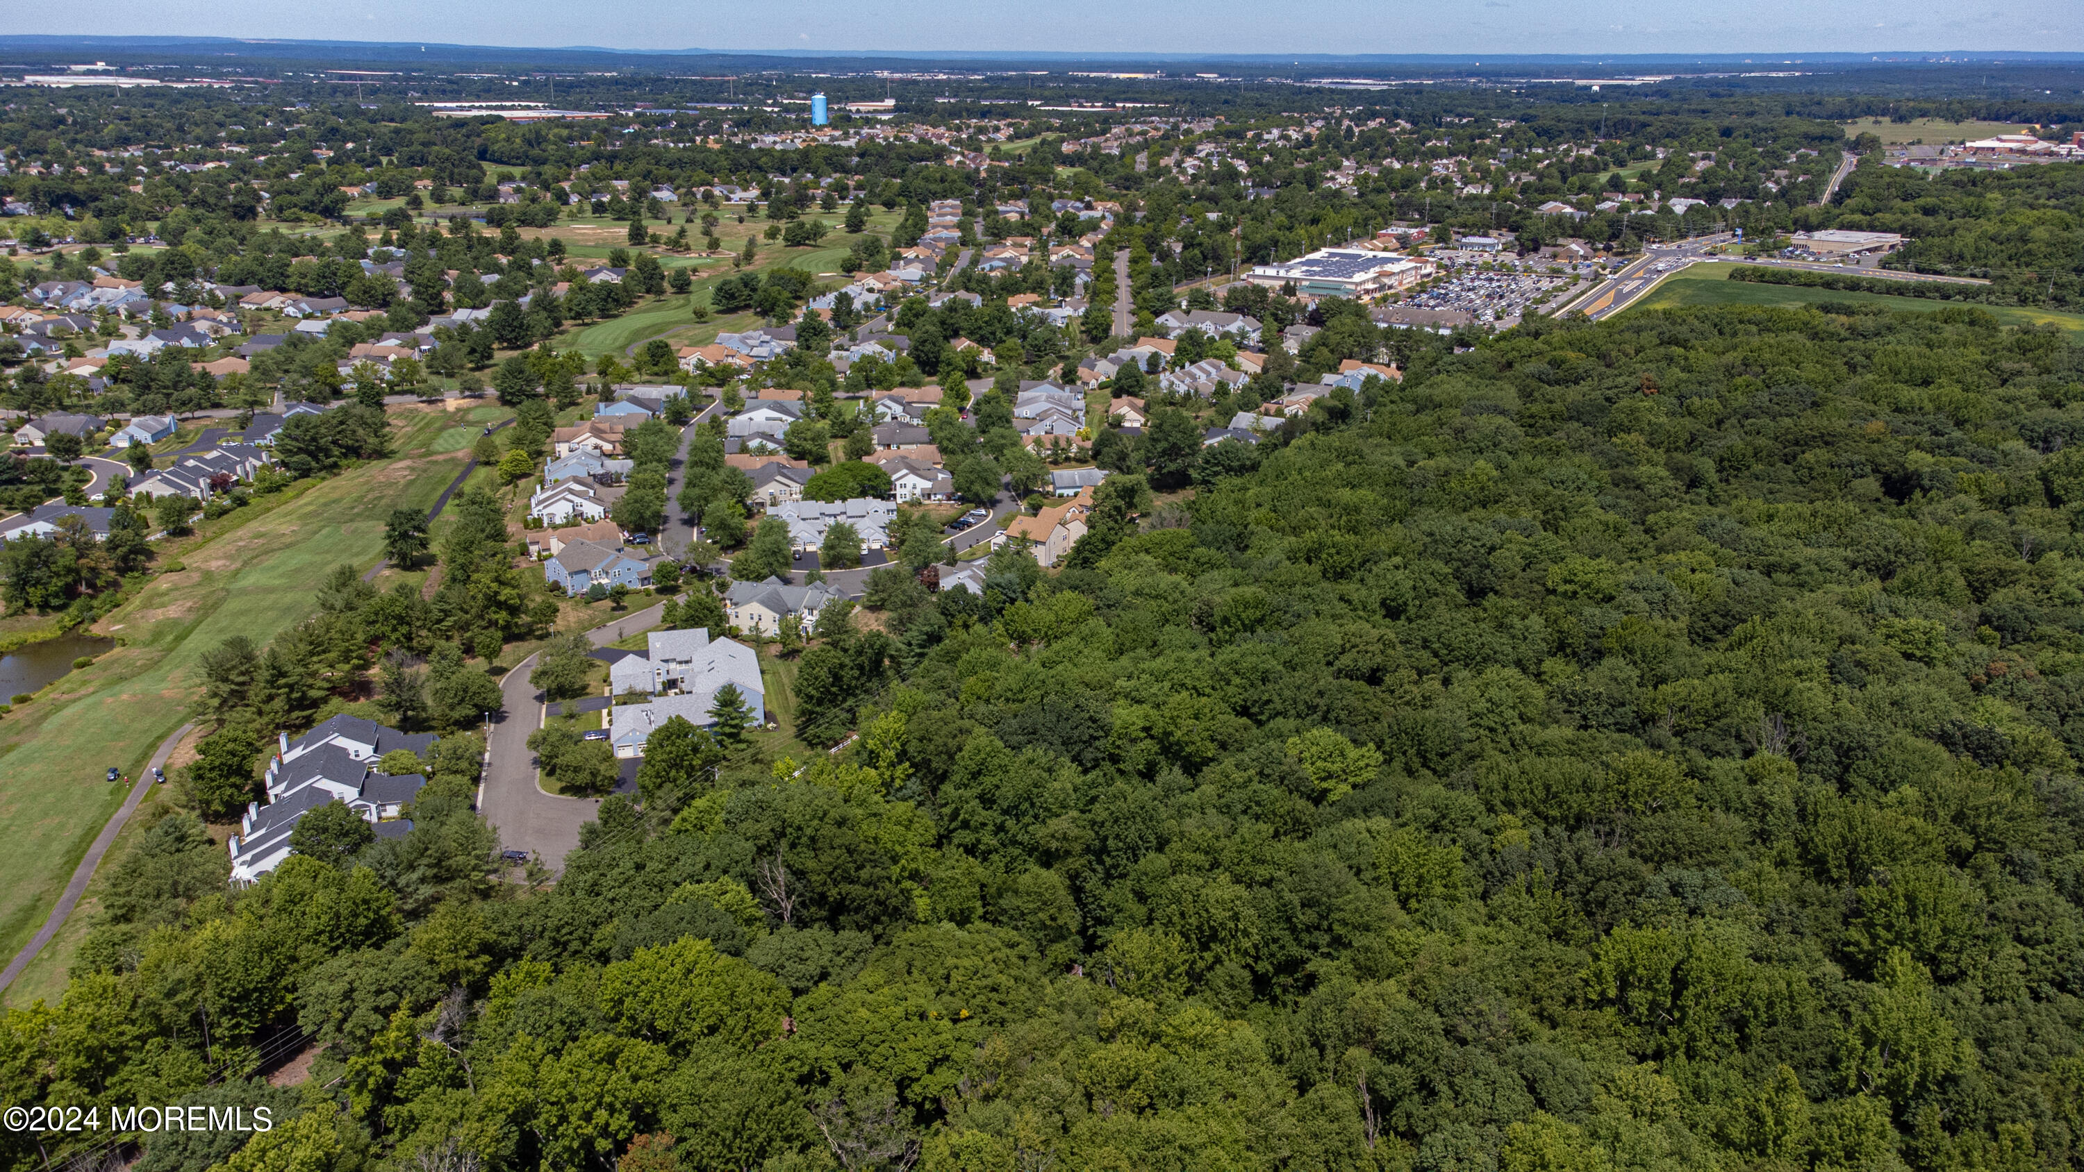
[{"label": "grey asphalt cul-de-sac road between dark-roofed and pale-roofed townhouses", "polygon": [[[623,635],[656,627],[665,604],[634,610],[606,627],[596,627],[588,639],[604,647]],[[492,720],[490,762],[477,791],[477,810],[500,835],[506,849],[529,851],[552,872],[565,870],[565,856],[579,845],[579,826],[594,820],[598,797],[561,797],[546,793],[536,779],[536,754],[527,735],[542,727],[542,693],[527,681],[536,656],[521,660],[500,681],[506,712]]]}]

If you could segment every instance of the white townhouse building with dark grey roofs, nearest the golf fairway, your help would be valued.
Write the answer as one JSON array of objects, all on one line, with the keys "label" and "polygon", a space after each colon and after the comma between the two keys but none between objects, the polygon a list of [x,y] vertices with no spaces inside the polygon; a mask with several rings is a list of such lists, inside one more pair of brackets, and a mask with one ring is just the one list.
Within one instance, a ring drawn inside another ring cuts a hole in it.
[{"label": "white townhouse building with dark grey roofs, nearest the golf fairway", "polygon": [[400,820],[404,806],[427,783],[423,774],[383,774],[377,760],[392,749],[425,754],[433,735],[406,735],[356,716],[333,716],[294,745],[277,735],[277,754],[267,766],[267,806],[246,806],[240,833],[231,837],[231,883],[256,883],[290,858],[290,835],[304,814],[346,804],[373,822],[377,837],[404,837],[413,822]]}]

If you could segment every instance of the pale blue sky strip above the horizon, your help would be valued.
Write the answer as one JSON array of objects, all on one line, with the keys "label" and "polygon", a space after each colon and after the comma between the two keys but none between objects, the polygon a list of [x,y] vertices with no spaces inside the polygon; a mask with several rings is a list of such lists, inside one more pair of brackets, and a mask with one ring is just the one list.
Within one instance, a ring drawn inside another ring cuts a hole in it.
[{"label": "pale blue sky strip above the horizon", "polygon": [[2078,0],[69,0],[21,33],[1050,52],[2084,50]]}]

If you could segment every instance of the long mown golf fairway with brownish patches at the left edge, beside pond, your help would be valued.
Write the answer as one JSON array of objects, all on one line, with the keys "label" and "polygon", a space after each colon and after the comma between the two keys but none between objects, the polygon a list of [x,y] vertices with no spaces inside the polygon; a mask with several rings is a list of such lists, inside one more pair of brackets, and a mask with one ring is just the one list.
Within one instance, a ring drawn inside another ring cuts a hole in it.
[{"label": "long mown golf fairway with brownish patches at the left edge, beside pond", "polygon": [[0,953],[27,943],[121,804],[123,789],[102,772],[135,776],[188,718],[202,652],[231,635],[265,643],[311,614],[325,570],[373,564],[383,516],[431,506],[458,466],[461,456],[386,460],[208,523],[175,550],[181,572],[150,581],[96,627],[125,645],[0,724],[0,822],[13,833],[0,860]]}]

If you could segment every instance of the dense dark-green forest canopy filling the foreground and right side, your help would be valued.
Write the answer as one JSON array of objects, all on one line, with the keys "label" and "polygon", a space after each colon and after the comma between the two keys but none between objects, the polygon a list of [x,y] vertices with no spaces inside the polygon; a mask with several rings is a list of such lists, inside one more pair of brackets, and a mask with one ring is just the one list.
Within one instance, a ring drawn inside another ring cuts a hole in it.
[{"label": "dense dark-green forest canopy filling the foreground and right side", "polygon": [[152,1170],[2084,1168],[2080,433],[1965,306],[1423,350],[886,579],[859,741],[669,724],[554,887],[456,754],[244,891],[167,818],[0,1085],[275,1105]]}]

